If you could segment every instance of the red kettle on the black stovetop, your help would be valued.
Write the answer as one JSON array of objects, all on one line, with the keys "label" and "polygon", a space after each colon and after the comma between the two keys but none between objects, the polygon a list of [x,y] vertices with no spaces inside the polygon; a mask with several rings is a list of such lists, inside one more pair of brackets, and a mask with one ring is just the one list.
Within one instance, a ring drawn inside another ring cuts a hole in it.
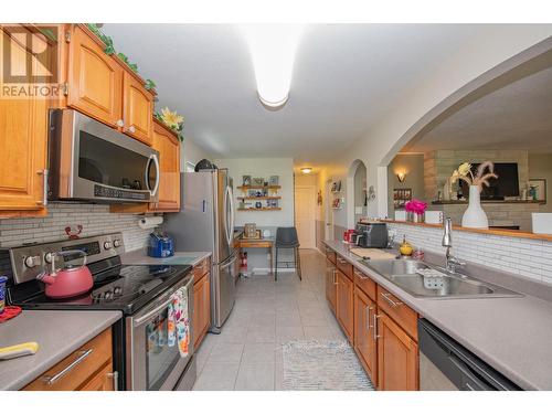
[{"label": "red kettle on the black stovetop", "polygon": [[[56,257],[73,255],[83,257],[83,264],[81,266],[64,266],[61,269],[55,268]],[[91,270],[86,266],[86,253],[77,250],[52,253],[51,272],[43,272],[36,276],[36,278],[46,285],[46,296],[54,299],[70,298],[85,294],[91,290],[94,285]]]}]

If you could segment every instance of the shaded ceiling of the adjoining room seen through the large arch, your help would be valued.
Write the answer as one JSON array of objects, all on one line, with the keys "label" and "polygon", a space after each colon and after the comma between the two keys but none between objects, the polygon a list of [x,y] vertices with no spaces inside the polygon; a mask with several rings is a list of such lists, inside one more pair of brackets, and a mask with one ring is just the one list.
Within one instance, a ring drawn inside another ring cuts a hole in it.
[{"label": "shaded ceiling of the adjoining room seen through the large arch", "polygon": [[552,67],[469,104],[415,138],[404,151],[435,149],[552,152]]}]

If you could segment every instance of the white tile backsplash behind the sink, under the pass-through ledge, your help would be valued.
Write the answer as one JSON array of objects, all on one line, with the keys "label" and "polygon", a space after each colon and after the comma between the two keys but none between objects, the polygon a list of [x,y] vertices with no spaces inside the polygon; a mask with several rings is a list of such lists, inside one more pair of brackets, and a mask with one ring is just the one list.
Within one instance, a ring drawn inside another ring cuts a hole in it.
[{"label": "white tile backsplash behind the sink, under the pass-through ledge", "polygon": [[[445,254],[442,229],[401,223],[389,227],[396,232],[395,241],[404,234],[416,247]],[[453,244],[453,254],[460,259],[552,284],[552,242],[457,231]]]}]

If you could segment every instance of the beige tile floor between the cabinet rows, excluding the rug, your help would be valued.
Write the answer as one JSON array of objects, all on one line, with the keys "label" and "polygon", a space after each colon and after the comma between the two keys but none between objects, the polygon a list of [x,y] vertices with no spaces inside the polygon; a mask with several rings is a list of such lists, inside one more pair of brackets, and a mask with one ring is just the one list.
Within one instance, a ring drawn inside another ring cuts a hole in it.
[{"label": "beige tile floor between the cabinet rows, excluding the rug", "polygon": [[325,256],[301,250],[295,273],[240,279],[236,304],[220,335],[209,333],[198,358],[194,390],[282,390],[282,343],[344,339],[326,305]]}]

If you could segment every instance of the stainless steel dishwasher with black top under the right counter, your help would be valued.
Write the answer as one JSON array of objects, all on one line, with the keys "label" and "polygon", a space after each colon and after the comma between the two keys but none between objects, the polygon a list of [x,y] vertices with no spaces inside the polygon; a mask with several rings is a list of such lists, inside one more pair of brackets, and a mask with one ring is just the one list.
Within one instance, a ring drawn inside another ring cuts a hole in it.
[{"label": "stainless steel dishwasher with black top under the right counter", "polygon": [[418,320],[421,391],[521,390],[425,319]]}]

